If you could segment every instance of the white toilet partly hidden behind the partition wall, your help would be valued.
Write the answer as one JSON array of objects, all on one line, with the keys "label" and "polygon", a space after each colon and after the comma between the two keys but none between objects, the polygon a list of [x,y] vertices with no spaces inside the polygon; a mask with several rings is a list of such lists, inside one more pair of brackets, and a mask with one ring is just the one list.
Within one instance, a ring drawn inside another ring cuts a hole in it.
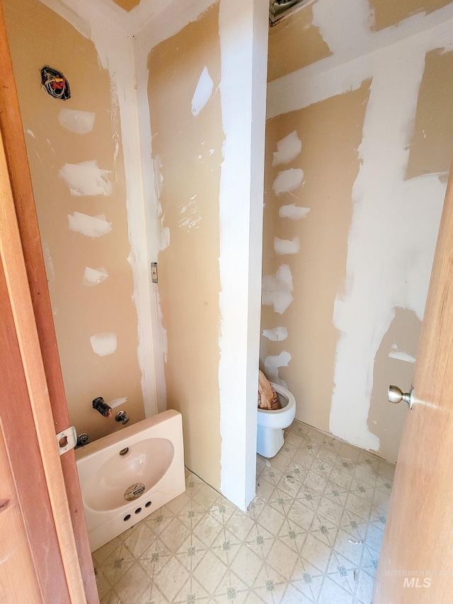
[{"label": "white toilet partly hidden behind the partition wall", "polygon": [[296,399],[286,388],[270,382],[282,409],[268,411],[258,407],[258,434],[256,439],[256,452],[263,457],[274,457],[285,443],[283,430],[291,425],[296,415]]}]

